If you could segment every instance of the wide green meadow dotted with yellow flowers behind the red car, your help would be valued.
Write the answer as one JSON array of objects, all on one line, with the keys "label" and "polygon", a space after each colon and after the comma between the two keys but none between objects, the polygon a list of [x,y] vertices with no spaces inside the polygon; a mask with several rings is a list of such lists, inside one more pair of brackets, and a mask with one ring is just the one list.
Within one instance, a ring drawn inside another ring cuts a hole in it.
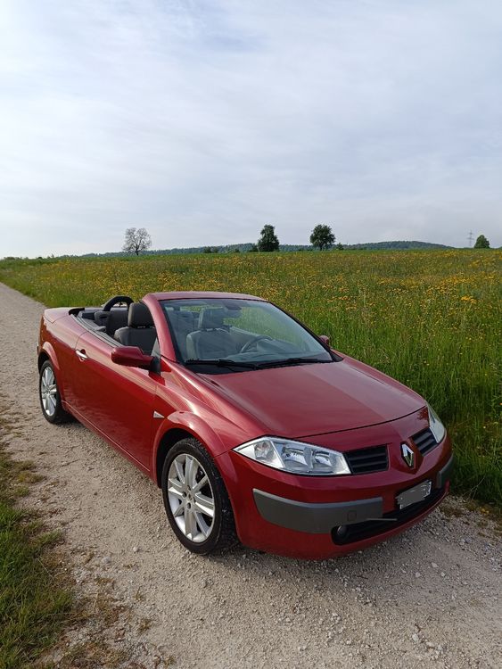
[{"label": "wide green meadow dotted with yellow flowers behind the red car", "polygon": [[4,260],[0,280],[47,305],[225,290],[276,302],[431,402],[457,456],[454,487],[502,505],[502,253],[279,252]]}]

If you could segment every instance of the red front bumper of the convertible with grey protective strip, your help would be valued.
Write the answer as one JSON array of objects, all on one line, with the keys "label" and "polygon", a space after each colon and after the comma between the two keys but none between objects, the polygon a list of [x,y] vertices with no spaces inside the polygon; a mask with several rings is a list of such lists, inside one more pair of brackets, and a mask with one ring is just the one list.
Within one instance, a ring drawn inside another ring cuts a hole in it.
[{"label": "red front bumper of the convertible with grey protective strip", "polygon": [[[416,417],[407,417],[392,425],[354,431],[358,433],[353,435],[354,447],[388,444],[389,468],[373,474],[291,475],[233,450],[222,454],[216,461],[232,501],[240,540],[278,555],[325,559],[364,549],[415,524],[448,493],[453,463],[447,435],[414,471],[406,466],[400,443],[404,435],[415,434],[421,426],[417,427]],[[342,437],[347,443],[349,435]],[[340,439],[326,435],[320,445],[336,448],[335,438]],[[399,493],[426,480],[432,482],[430,495],[399,509]]]}]

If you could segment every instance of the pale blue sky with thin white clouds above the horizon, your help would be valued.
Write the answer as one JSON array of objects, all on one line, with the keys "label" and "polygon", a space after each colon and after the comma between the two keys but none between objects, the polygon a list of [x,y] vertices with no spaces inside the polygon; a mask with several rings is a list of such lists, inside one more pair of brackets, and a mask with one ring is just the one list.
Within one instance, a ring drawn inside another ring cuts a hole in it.
[{"label": "pale blue sky with thin white clouds above the horizon", "polygon": [[502,244],[498,0],[2,0],[0,257]]}]

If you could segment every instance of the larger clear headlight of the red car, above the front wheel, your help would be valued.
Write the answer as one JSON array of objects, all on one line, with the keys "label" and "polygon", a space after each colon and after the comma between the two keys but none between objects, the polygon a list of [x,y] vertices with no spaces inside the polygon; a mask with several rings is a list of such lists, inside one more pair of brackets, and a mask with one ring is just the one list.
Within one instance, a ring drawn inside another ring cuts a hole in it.
[{"label": "larger clear headlight of the red car, above the front wheel", "polygon": [[309,443],[291,442],[276,437],[261,437],[243,443],[234,450],[246,458],[267,467],[283,469],[292,474],[325,475],[350,474],[342,453],[322,449]]}]

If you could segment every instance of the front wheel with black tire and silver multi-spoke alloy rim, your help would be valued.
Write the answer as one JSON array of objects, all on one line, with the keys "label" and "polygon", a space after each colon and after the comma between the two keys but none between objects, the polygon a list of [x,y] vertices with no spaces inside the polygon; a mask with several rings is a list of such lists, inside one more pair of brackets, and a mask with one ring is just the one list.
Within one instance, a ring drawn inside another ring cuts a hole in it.
[{"label": "front wheel with black tire and silver multi-spoke alloy rim", "polygon": [[236,542],[225,483],[193,437],[173,446],[162,467],[162,496],[173,532],[193,553],[218,553]]}]

